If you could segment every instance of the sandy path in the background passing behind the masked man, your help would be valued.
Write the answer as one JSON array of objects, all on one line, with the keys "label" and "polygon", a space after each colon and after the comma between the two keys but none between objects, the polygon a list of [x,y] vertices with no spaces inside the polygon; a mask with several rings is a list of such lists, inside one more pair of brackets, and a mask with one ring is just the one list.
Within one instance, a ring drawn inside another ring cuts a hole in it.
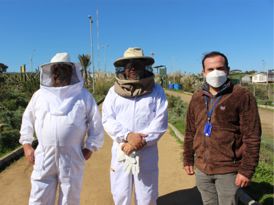
[{"label": "sandy path in the background passing behind the masked man", "polygon": [[[173,92],[169,90],[164,91],[166,94],[170,94],[173,96],[180,96],[181,99],[185,102],[190,102],[191,97],[188,94],[183,94],[180,92]],[[267,111],[264,109],[259,109],[259,114],[260,114],[260,120],[262,124],[262,136],[263,137],[269,137],[270,139],[273,139],[274,135],[274,130],[273,130],[273,118],[274,118],[274,113],[272,111]]]}]

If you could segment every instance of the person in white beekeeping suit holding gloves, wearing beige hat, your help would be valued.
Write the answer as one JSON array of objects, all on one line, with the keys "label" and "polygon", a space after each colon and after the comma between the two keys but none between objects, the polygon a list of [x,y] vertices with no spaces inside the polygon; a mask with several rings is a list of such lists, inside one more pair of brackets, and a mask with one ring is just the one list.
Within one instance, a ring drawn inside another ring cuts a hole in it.
[{"label": "person in white beekeeping suit holding gloves, wearing beige hat", "polygon": [[158,140],[167,128],[167,100],[154,83],[154,59],[129,48],[116,59],[116,82],[103,102],[103,127],[112,137],[111,191],[116,205],[156,204]]}]

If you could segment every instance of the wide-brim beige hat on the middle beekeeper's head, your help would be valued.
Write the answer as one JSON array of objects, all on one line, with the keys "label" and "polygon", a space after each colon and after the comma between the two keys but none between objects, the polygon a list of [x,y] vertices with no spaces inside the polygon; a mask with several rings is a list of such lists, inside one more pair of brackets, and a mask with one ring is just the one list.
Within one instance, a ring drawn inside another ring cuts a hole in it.
[{"label": "wide-brim beige hat on the middle beekeeper's head", "polygon": [[115,67],[123,67],[125,59],[145,59],[147,61],[148,66],[154,64],[154,59],[152,57],[144,56],[144,52],[140,48],[129,48],[124,53],[124,57],[116,59],[114,61]]}]

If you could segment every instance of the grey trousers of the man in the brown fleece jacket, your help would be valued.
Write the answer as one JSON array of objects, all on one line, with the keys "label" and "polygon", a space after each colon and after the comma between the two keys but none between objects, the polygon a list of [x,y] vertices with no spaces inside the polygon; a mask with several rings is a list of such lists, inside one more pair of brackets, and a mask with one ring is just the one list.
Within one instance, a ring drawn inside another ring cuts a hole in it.
[{"label": "grey trousers of the man in the brown fleece jacket", "polygon": [[196,170],[196,186],[204,205],[236,205],[238,191],[235,181],[238,173],[208,175]]}]

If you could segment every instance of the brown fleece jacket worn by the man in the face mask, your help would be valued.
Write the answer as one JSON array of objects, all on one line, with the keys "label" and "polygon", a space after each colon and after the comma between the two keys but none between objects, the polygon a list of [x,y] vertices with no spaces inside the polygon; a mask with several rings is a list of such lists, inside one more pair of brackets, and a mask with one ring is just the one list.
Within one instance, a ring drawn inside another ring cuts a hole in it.
[{"label": "brown fleece jacket worn by the man in the face mask", "polygon": [[212,112],[210,137],[203,135],[208,118],[205,95],[209,111],[212,100],[208,83],[193,94],[186,117],[184,167],[195,161],[205,174],[238,172],[251,179],[258,165],[262,133],[258,106],[245,87],[233,85],[229,79],[225,85],[213,98],[212,106],[223,95]]}]

